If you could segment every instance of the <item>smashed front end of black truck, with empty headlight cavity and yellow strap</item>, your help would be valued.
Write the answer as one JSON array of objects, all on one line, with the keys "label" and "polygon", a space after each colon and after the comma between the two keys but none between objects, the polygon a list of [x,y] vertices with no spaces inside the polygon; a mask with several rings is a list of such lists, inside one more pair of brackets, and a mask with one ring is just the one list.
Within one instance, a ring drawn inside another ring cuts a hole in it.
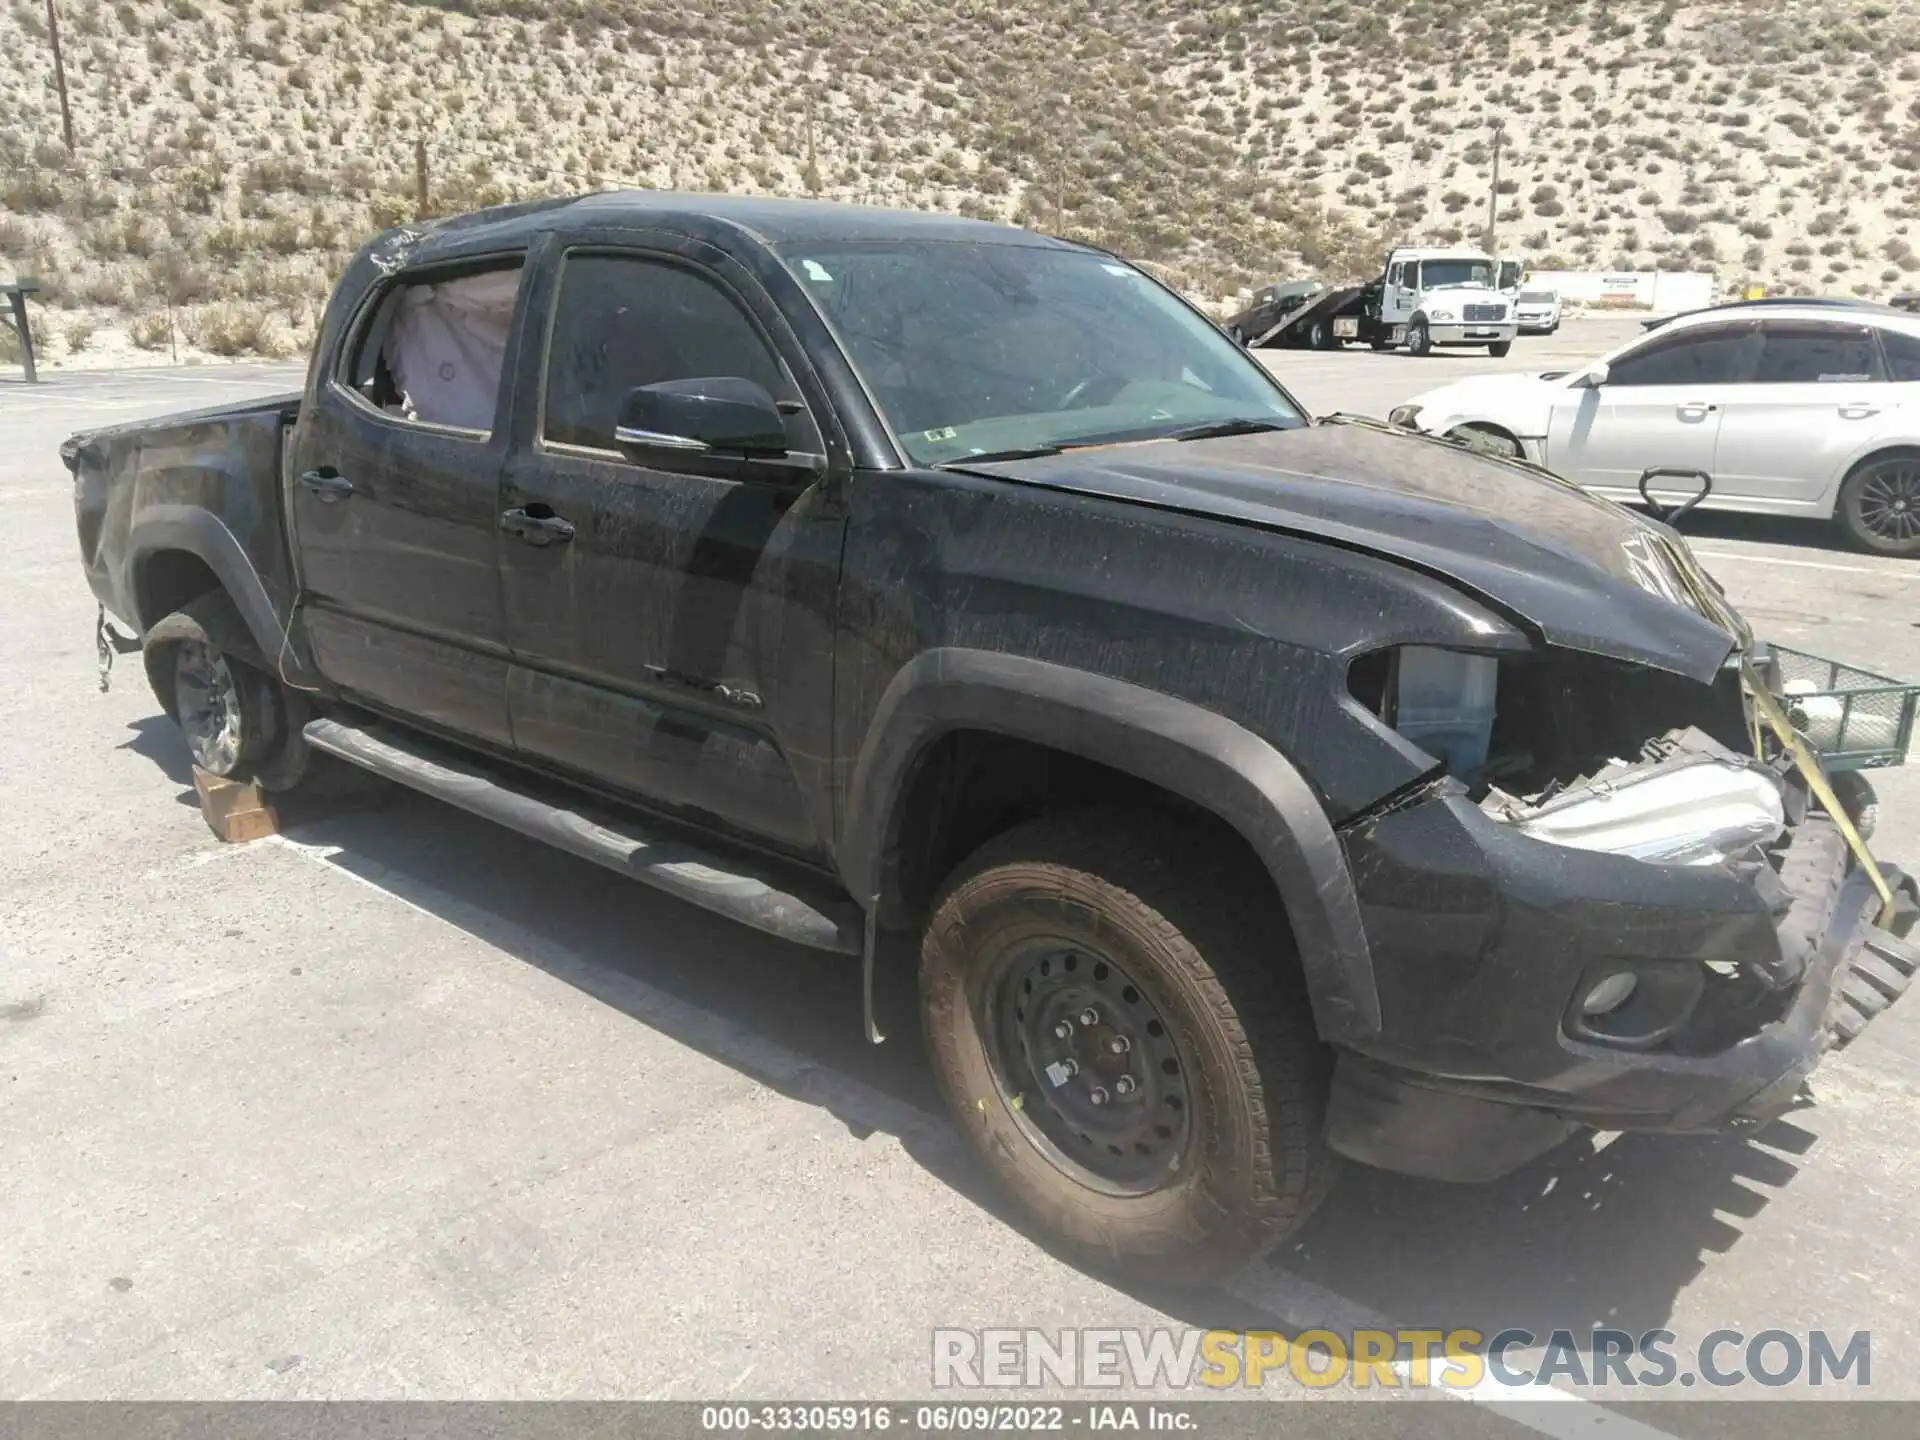
[{"label": "smashed front end of black truck, with empty headlight cavity and yellow strap", "polygon": [[1709,676],[1561,645],[1350,668],[1436,768],[1344,828],[1384,1014],[1340,1054],[1332,1148],[1480,1181],[1578,1127],[1755,1127],[1920,968],[1914,881],[1868,851],[1766,649],[1655,543],[1644,588],[1732,639]]}]

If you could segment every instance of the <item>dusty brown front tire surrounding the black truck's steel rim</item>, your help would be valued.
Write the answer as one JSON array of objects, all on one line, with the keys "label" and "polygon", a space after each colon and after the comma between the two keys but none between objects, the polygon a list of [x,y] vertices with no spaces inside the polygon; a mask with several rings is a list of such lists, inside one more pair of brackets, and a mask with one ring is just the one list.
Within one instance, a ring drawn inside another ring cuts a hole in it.
[{"label": "dusty brown front tire surrounding the black truck's steel rim", "polygon": [[[1054,943],[1094,970],[1110,960],[1139,987],[1127,1004],[1164,1018],[1156,1033],[1183,1058],[1169,1073],[1185,1098],[1158,1094],[1187,1112],[1183,1150],[1142,1181],[1150,1188],[1089,1179],[1108,1162],[1098,1146],[1081,1156],[1050,1142],[1043,1127],[1060,1112],[1031,1056],[1018,1075],[1006,1073],[1018,1062],[996,1060],[998,977],[1010,956]],[[1332,1183],[1321,1142],[1331,1054],[1284,910],[1265,870],[1202,824],[1081,810],[989,841],[935,902],[920,998],[935,1073],[975,1154],[1091,1269],[1219,1281],[1304,1223]]]}]

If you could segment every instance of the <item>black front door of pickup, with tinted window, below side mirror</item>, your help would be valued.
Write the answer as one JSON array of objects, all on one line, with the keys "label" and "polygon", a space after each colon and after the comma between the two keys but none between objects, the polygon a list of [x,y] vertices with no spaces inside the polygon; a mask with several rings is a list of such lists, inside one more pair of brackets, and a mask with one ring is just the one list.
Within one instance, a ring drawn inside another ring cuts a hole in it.
[{"label": "black front door of pickup, with tinted window, below side mirror", "polygon": [[576,244],[541,280],[541,399],[499,501],[513,730],[534,762],[810,856],[845,518],[831,486],[614,438],[639,386],[739,376],[824,449],[770,301],[660,244]]}]

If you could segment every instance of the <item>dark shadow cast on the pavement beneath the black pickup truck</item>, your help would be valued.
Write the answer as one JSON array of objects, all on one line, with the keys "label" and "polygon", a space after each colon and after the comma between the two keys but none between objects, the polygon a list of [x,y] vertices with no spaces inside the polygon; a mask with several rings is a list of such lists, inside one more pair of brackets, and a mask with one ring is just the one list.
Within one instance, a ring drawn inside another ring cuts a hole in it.
[{"label": "dark shadow cast on the pavement beneath the black pickup truck", "polygon": [[[891,956],[881,996],[889,1039],[872,1046],[856,962],[741,929],[432,801],[394,791],[374,814],[323,814],[286,837],[321,864],[828,1110],[856,1137],[895,1135],[937,1179],[1008,1219],[945,1119],[914,1016],[912,954]],[[1740,1240],[1741,1223],[1793,1179],[1812,1142],[1791,1121],[1759,1142],[1619,1137],[1596,1148],[1576,1139],[1480,1187],[1352,1165],[1269,1261],[1350,1313],[1315,1313],[1311,1300],[1277,1313],[1260,1304],[1260,1284],[1133,1294],[1221,1329],[1292,1332],[1384,1317],[1486,1334],[1590,1325],[1638,1334],[1667,1321],[1678,1292]]]}]

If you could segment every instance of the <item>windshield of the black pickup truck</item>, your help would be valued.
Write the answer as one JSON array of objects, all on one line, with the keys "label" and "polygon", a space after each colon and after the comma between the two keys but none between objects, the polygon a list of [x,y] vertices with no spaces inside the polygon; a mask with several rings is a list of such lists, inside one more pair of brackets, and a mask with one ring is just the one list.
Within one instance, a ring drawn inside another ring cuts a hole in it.
[{"label": "windshield of the black pickup truck", "polygon": [[1108,255],[902,240],[783,259],[918,465],[1306,422],[1215,324]]}]

